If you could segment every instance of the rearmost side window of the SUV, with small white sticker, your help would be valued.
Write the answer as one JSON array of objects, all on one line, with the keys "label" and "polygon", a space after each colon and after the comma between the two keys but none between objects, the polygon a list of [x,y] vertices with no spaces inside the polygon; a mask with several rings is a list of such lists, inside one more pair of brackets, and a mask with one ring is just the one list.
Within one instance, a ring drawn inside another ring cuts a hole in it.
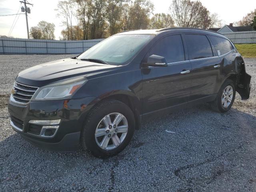
[{"label": "rearmost side window of the SUV, with small white sticker", "polygon": [[224,38],[210,36],[210,39],[218,55],[223,55],[227,52],[230,52],[233,49],[231,43]]}]

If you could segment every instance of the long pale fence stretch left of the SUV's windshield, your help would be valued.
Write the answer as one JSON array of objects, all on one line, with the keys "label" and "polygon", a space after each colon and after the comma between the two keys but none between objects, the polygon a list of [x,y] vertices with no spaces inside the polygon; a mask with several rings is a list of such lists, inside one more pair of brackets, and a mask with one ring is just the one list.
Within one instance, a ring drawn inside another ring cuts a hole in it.
[{"label": "long pale fence stretch left of the SUV's windshield", "polygon": [[0,54],[80,54],[104,39],[60,41],[0,38]]}]

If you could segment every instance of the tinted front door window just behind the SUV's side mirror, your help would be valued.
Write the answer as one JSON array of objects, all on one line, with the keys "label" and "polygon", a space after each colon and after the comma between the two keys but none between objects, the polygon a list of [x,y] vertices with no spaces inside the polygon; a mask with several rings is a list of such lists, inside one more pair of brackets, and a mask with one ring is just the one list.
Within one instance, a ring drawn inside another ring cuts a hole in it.
[{"label": "tinted front door window just behind the SUV's side mirror", "polygon": [[159,55],[166,58],[168,63],[184,61],[184,48],[180,35],[167,36],[159,40],[150,55]]}]

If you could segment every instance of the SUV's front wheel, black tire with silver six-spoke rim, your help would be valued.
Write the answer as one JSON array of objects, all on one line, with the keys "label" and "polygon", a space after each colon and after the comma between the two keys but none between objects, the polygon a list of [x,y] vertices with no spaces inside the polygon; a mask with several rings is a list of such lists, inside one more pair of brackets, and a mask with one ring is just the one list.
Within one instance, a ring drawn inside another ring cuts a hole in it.
[{"label": "SUV's front wheel, black tire with silver six-spoke rim", "polygon": [[[120,122],[118,122],[119,119],[121,119]],[[114,120],[118,122],[116,125],[113,124]],[[110,124],[111,127],[106,124]],[[132,110],[118,100],[106,100],[88,114],[82,128],[80,142],[84,150],[88,149],[96,157],[114,156],[126,148],[132,139],[134,128],[135,120]],[[96,136],[99,137],[96,138]]]}]

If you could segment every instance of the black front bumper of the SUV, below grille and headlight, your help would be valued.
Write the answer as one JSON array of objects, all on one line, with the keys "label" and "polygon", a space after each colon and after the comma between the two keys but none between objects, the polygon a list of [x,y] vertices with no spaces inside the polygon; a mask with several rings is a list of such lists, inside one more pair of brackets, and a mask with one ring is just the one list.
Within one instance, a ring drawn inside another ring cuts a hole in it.
[{"label": "black front bumper of the SUV, below grille and headlight", "polygon": [[[25,140],[47,150],[71,151],[77,149],[80,131],[86,114],[93,106],[95,97],[70,100],[30,101],[28,105],[9,102],[11,126]],[[29,120],[61,119],[59,128],[52,138],[31,134]],[[29,133],[30,132],[30,133]]]}]

